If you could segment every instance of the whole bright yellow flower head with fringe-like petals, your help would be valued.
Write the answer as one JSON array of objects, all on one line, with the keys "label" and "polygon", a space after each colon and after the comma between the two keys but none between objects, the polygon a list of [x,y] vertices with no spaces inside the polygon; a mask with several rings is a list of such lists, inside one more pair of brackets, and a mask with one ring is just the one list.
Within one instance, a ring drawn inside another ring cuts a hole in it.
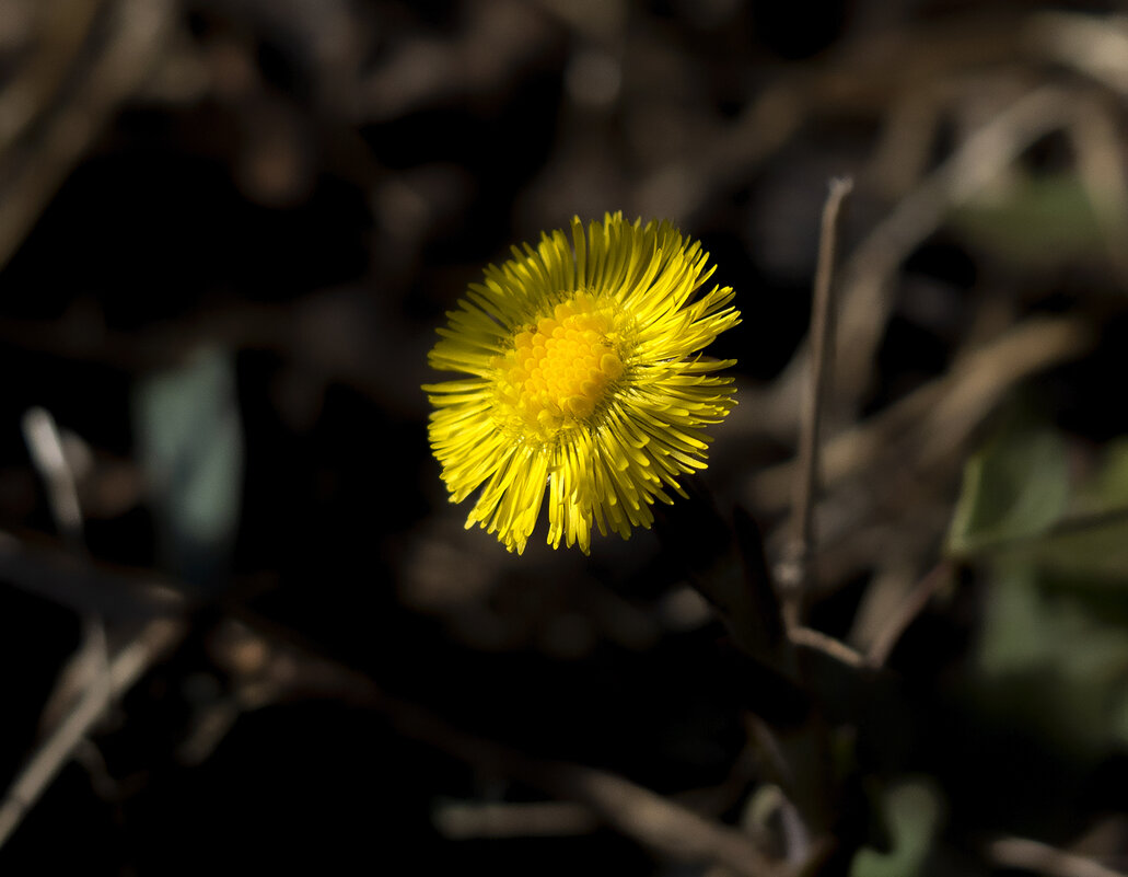
[{"label": "whole bright yellow flower head with fringe-like petals", "polygon": [[704,428],[735,404],[714,372],[734,360],[699,351],[740,314],[729,287],[700,291],[708,254],[668,222],[607,214],[584,237],[576,218],[571,243],[512,252],[439,330],[432,368],[465,377],[423,387],[431,447],[451,502],[481,489],[467,527],[521,552],[547,491],[548,542],[588,553],[593,525],[628,538],[705,468]]}]

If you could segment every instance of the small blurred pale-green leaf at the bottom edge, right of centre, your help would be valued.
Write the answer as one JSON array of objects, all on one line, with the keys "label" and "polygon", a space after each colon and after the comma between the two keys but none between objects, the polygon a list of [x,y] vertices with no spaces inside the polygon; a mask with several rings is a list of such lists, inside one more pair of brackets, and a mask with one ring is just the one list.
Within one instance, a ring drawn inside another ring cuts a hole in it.
[{"label": "small blurred pale-green leaf at the bottom edge, right of centre", "polygon": [[863,847],[851,862],[851,877],[914,877],[928,857],[942,813],[935,787],[926,779],[906,780],[885,792],[883,805],[891,849]]}]

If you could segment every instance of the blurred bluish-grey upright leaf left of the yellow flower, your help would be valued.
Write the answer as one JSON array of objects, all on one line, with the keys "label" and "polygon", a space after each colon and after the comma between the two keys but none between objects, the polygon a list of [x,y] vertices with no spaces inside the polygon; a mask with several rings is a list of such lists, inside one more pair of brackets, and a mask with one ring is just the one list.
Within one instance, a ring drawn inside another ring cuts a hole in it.
[{"label": "blurred bluish-grey upright leaf left of the yellow flower", "polygon": [[202,350],[177,369],[147,376],[133,407],[165,565],[186,584],[221,587],[243,492],[231,357]]}]

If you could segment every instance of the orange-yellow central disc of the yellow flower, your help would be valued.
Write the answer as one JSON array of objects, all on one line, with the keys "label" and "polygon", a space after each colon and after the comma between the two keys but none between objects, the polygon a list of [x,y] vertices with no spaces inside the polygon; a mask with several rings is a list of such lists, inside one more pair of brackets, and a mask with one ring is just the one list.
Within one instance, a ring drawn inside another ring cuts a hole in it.
[{"label": "orange-yellow central disc of the yellow flower", "polygon": [[499,401],[539,438],[590,418],[623,375],[614,317],[580,293],[527,326],[497,363]]}]

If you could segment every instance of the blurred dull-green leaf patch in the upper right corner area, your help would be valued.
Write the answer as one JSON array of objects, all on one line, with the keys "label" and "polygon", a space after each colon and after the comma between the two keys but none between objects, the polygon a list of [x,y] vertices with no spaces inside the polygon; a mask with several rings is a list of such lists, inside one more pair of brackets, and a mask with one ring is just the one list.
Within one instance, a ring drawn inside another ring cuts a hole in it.
[{"label": "blurred dull-green leaf patch in the upper right corner area", "polygon": [[1017,179],[961,207],[951,223],[976,247],[1023,265],[1103,253],[1092,203],[1074,174]]}]

